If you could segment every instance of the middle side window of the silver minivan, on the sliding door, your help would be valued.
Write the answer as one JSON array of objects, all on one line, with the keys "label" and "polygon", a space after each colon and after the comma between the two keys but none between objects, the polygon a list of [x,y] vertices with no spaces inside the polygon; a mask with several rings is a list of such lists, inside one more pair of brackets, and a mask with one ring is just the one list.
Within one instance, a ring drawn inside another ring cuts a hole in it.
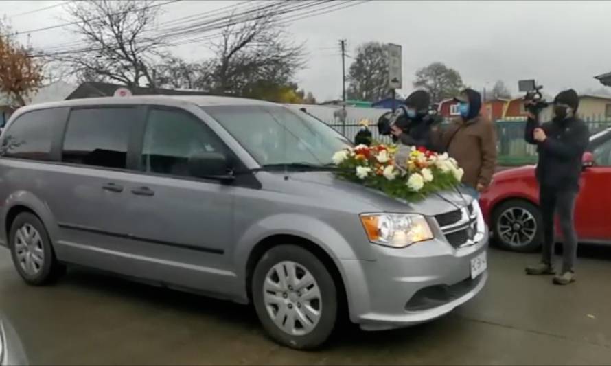
[{"label": "middle side window of the silver minivan, on the sliding door", "polygon": [[138,111],[133,107],[82,108],[70,112],[62,161],[124,169]]}]

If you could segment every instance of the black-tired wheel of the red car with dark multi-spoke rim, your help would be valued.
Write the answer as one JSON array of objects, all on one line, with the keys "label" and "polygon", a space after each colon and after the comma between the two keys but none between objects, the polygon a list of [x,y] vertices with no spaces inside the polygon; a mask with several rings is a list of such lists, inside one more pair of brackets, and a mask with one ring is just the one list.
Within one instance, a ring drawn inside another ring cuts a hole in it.
[{"label": "black-tired wheel of the red car with dark multi-spoke rim", "polygon": [[492,215],[494,243],[508,251],[537,251],[543,242],[540,209],[520,199],[505,201]]}]

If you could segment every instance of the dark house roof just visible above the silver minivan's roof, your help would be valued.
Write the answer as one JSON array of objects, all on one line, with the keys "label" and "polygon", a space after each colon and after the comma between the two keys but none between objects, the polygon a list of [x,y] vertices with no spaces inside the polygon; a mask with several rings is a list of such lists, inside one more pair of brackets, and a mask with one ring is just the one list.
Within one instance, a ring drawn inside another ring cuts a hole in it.
[{"label": "dark house roof just visible above the silver minivan's roof", "polygon": [[[66,99],[111,97],[119,88],[124,88],[124,86],[119,84],[110,84],[107,82],[84,82],[80,84],[72,93],[70,93]],[[132,91],[133,95],[213,95],[207,91],[184,89],[152,89],[148,87],[135,87],[131,88],[130,90]]]}]

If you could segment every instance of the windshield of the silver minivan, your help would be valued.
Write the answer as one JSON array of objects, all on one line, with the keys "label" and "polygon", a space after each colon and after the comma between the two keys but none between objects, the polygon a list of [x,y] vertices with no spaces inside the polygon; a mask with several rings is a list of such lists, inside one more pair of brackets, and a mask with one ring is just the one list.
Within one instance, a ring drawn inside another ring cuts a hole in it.
[{"label": "windshield of the silver minivan", "polygon": [[350,142],[324,122],[285,106],[206,106],[262,166],[332,165]]}]

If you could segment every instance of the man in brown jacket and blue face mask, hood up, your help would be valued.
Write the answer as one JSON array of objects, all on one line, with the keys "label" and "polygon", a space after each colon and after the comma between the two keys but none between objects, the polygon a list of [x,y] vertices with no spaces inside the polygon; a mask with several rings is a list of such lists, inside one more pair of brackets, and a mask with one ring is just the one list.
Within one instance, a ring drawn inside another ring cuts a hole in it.
[{"label": "man in brown jacket and blue face mask, hood up", "polygon": [[437,133],[437,143],[465,170],[463,183],[482,192],[492,181],[496,166],[494,124],[479,114],[482,102],[477,91],[465,89],[454,100],[459,102],[461,117]]}]

